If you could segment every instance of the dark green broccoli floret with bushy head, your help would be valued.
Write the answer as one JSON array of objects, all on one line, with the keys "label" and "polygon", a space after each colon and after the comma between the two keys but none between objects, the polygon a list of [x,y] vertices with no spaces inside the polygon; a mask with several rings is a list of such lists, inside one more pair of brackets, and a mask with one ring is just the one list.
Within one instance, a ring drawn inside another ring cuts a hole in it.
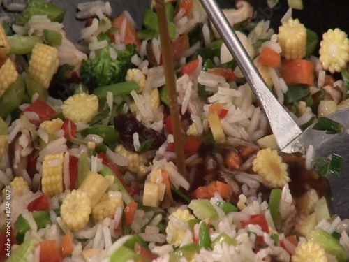
[{"label": "dark green broccoli floret with bushy head", "polygon": [[94,59],[82,61],[81,79],[89,88],[94,89],[103,85],[124,82],[129,68],[135,67],[131,57],[136,53],[135,45],[126,45],[126,50],[117,52],[117,59],[110,57],[110,43],[105,48],[96,51]]}]

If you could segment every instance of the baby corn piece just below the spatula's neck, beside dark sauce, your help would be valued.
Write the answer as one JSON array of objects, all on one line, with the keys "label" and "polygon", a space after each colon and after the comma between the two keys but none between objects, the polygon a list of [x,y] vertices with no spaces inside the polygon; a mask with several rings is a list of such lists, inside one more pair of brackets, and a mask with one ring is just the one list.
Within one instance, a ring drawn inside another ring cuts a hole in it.
[{"label": "baby corn piece just below the spatula's neck, beside dark sauce", "polygon": [[264,178],[267,187],[283,187],[290,181],[287,164],[283,163],[277,150],[266,148],[257,153],[252,169]]}]

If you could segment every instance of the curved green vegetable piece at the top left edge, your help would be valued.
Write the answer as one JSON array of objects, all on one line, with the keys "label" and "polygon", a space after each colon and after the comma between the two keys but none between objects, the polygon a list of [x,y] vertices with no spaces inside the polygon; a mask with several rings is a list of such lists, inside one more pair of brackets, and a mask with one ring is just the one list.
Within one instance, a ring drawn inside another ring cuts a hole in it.
[{"label": "curved green vegetable piece at the top left edge", "polygon": [[52,22],[62,22],[66,10],[43,0],[31,0],[20,15],[17,16],[15,24],[24,26],[34,15],[47,15]]}]

